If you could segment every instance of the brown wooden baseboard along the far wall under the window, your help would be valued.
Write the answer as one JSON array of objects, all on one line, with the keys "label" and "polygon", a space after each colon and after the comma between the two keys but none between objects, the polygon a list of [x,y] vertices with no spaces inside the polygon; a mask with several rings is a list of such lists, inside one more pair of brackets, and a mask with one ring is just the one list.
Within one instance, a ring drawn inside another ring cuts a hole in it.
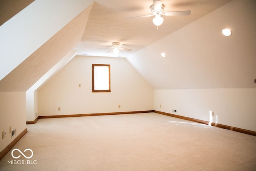
[{"label": "brown wooden baseboard along the far wall under the window", "polygon": [[74,115],[52,115],[52,116],[38,116],[39,119],[44,118],[58,118],[58,117],[80,117],[80,116],[102,116],[102,115],[121,115],[121,114],[132,114],[132,113],[150,113],[154,110],[145,111],[125,111],[125,112],[111,112],[111,113],[88,113],[88,114],[74,114]]}]

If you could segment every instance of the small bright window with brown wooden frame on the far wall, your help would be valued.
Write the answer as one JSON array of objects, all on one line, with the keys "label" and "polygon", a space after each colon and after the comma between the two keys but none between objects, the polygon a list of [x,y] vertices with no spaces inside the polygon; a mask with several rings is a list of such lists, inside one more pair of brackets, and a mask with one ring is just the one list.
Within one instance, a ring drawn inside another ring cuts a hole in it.
[{"label": "small bright window with brown wooden frame on the far wall", "polygon": [[111,92],[110,65],[92,64],[92,92]]}]

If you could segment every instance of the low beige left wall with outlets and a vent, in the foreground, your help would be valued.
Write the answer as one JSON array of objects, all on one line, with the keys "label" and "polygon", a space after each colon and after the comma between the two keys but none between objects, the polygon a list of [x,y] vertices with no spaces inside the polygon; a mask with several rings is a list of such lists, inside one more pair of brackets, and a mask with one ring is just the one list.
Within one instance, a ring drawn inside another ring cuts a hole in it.
[{"label": "low beige left wall with outlets and a vent, in the foreground", "polygon": [[[10,126],[16,129],[11,138]],[[26,129],[26,92],[0,92],[0,151]],[[2,139],[2,131],[6,137]]]}]

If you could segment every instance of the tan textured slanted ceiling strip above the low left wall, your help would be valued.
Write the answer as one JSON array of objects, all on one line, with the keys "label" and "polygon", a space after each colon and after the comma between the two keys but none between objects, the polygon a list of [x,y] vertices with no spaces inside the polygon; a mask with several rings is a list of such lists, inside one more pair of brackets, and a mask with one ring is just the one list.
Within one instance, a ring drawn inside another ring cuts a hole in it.
[{"label": "tan textured slanted ceiling strip above the low left wall", "polygon": [[76,16],[18,67],[0,80],[0,91],[27,91],[68,54],[82,38],[92,5]]}]

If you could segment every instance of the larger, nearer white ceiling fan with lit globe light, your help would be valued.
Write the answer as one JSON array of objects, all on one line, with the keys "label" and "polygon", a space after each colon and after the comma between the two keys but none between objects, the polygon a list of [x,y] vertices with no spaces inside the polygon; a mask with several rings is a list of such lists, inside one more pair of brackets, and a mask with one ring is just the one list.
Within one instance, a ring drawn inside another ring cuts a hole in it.
[{"label": "larger, nearer white ceiling fan with lit globe light", "polygon": [[164,12],[164,4],[162,4],[161,0],[153,0],[153,4],[150,6],[152,14],[144,15],[144,16],[136,16],[136,17],[130,17],[131,18],[139,18],[139,17],[151,17],[155,16],[153,18],[153,23],[156,25],[156,29],[158,29],[158,26],[160,26],[164,22],[164,18],[161,17],[161,15],[165,16],[189,16],[191,11],[171,11],[171,12]]}]

